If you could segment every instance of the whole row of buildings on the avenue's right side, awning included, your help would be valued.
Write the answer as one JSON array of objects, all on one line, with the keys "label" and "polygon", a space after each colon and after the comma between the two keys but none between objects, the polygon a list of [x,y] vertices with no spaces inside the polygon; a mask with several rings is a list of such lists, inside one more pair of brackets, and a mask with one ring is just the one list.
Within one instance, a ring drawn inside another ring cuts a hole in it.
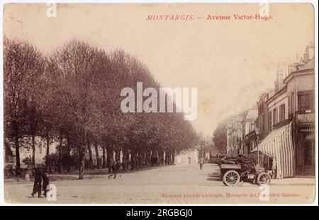
[{"label": "whole row of buildings on the avenue's right side, awning included", "polygon": [[275,178],[315,175],[314,54],[310,42],[299,62],[277,69],[274,89],[228,122],[227,154],[257,154]]}]

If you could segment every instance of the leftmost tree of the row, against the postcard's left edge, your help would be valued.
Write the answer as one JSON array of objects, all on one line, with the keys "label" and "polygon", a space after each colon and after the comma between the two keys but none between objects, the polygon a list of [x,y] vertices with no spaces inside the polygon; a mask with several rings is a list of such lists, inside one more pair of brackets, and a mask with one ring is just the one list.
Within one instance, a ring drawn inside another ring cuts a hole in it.
[{"label": "leftmost tree of the row, against the postcard's left edge", "polygon": [[[35,160],[34,138],[40,120],[35,91],[43,74],[43,64],[40,52],[28,42],[4,38],[5,136],[14,139],[17,170],[20,170],[19,138],[23,134],[32,136],[33,164]],[[29,117],[31,114],[33,117]]]}]

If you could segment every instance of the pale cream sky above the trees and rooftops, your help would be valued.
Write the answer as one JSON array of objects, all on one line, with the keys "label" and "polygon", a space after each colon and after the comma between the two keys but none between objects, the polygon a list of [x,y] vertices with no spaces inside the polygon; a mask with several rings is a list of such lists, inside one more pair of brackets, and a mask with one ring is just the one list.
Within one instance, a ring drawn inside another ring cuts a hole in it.
[{"label": "pale cream sky above the trees and rooftops", "polygon": [[[196,131],[211,137],[218,122],[256,104],[274,88],[276,69],[300,59],[314,40],[310,4],[63,4],[55,17],[45,4],[4,6],[4,35],[28,40],[50,54],[77,38],[106,51],[121,48],[140,59],[162,87],[196,87]],[[189,21],[147,21],[147,16],[192,15]],[[207,20],[230,16],[230,20]],[[120,108],[120,107],[119,107]]]}]

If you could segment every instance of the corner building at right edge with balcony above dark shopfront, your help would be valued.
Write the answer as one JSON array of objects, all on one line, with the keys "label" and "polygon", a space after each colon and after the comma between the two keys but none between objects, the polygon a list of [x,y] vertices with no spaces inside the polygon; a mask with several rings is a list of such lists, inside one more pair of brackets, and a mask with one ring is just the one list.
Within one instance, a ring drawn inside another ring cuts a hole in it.
[{"label": "corner building at right edge with balcony above dark shopfront", "polygon": [[[306,59],[312,54],[310,48],[308,45]],[[306,61],[284,79],[289,100],[287,114],[294,122],[296,175],[315,175],[315,60]]]}]

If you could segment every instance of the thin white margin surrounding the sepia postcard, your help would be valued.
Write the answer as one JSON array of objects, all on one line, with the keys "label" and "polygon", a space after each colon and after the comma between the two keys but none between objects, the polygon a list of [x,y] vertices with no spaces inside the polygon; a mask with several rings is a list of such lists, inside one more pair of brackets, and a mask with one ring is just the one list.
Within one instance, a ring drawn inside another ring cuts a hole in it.
[{"label": "thin white margin surrounding the sepia postcard", "polygon": [[[4,143],[4,128],[3,128],[3,122],[4,122],[4,100],[3,100],[3,60],[2,60],[2,42],[3,42],[3,5],[4,4],[9,4],[9,3],[310,3],[313,4],[314,7],[314,16],[315,16],[315,23],[314,23],[314,30],[315,30],[315,201],[313,204],[289,204],[291,206],[318,206],[318,1],[315,0],[272,0],[272,1],[267,1],[267,0],[260,0],[260,1],[251,1],[251,0],[225,0],[225,1],[189,1],[189,0],[164,0],[164,1],[154,1],[154,0],[147,0],[147,1],[142,1],[142,0],[118,0],[118,1],[108,1],[108,0],[93,0],[93,1],[87,1],[87,0],[79,0],[79,1],[72,1],[72,0],[48,0],[48,1],[41,1],[41,0],[16,0],[16,1],[8,1],[8,0],[0,0],[1,1],[1,25],[0,25],[0,30],[1,30],[1,44],[0,44],[0,52],[1,52],[1,59],[0,59],[0,140],[1,140],[1,145],[0,147],[0,164],[4,164],[4,148],[3,148],[3,143]],[[5,205],[5,206],[16,206],[16,205],[40,205],[40,206],[72,206],[72,205],[77,205],[77,206],[224,206],[224,205],[232,205],[232,206],[282,206],[286,204],[10,204],[6,203],[4,201],[4,169],[2,168],[3,165],[0,167],[0,205]]]}]

